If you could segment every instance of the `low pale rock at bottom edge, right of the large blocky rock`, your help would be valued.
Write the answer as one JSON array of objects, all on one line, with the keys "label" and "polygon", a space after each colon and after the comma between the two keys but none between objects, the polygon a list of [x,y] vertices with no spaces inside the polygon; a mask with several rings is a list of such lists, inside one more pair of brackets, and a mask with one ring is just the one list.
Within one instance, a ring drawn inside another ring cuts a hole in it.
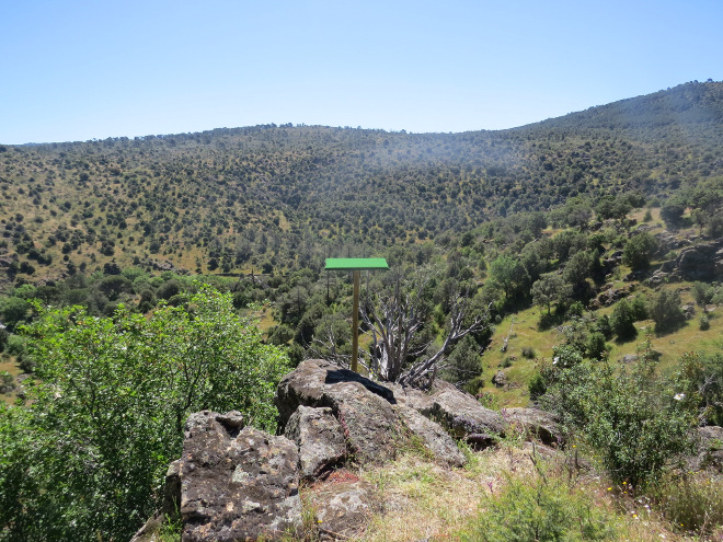
[{"label": "low pale rock at bottom edge, right of the large blocky rock", "polygon": [[314,486],[309,498],[321,540],[358,539],[377,508],[374,486],[360,480]]}]

